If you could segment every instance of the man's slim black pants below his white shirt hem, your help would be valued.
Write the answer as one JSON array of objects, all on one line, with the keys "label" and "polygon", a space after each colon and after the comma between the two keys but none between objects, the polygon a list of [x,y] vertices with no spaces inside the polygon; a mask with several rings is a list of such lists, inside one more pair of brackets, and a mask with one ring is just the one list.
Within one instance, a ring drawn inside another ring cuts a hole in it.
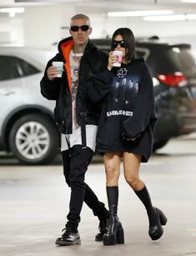
[{"label": "man's slim black pants below his white shirt hem", "polygon": [[68,151],[62,151],[62,156],[63,174],[68,186],[71,187],[66,228],[76,230],[80,222],[83,202],[86,202],[88,207],[93,210],[93,214],[98,218],[104,216],[105,207],[104,203],[98,201],[98,197],[93,190],[84,182],[85,173],[93,158],[93,151],[89,147],[82,149],[81,145],[76,145]]}]

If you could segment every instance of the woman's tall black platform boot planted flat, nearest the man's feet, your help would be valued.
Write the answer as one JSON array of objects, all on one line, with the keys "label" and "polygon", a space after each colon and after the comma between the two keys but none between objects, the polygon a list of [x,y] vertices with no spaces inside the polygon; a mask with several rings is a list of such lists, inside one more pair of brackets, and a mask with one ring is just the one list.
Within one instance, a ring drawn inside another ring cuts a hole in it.
[{"label": "woman's tall black platform boot planted flat, nearest the man's feet", "polygon": [[118,187],[107,187],[109,218],[107,222],[107,233],[103,235],[103,245],[114,245],[124,243],[122,224],[117,216]]}]

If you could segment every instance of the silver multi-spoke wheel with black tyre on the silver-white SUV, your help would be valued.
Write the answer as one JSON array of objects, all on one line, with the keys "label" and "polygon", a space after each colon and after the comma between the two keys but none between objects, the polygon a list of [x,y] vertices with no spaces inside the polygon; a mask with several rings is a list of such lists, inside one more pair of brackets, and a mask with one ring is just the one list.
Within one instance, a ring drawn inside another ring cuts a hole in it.
[{"label": "silver multi-spoke wheel with black tyre on the silver-white SUV", "polygon": [[9,146],[13,155],[23,163],[48,163],[58,153],[58,131],[44,115],[24,115],[13,124]]}]

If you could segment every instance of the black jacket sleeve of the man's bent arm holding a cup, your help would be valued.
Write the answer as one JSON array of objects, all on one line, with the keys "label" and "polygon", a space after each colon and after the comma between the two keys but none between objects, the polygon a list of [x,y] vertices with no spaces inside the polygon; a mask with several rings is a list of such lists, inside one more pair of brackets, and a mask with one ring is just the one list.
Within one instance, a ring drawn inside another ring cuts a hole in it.
[{"label": "black jacket sleeve of the man's bent arm holding a cup", "polygon": [[62,61],[59,59],[59,54],[48,61],[43,79],[40,81],[41,94],[48,100],[57,100],[60,92],[61,79],[55,78],[53,80],[49,80],[47,75],[47,70],[52,66],[53,61]]}]

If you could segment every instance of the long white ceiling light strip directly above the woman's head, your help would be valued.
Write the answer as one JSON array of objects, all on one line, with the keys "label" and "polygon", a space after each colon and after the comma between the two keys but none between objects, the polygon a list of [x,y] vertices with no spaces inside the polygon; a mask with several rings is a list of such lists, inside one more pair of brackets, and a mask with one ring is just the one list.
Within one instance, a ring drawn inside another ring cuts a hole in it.
[{"label": "long white ceiling light strip directly above the woman's head", "polygon": [[133,11],[133,12],[109,12],[108,17],[141,17],[153,15],[173,14],[172,10],[149,10],[149,11]]}]

